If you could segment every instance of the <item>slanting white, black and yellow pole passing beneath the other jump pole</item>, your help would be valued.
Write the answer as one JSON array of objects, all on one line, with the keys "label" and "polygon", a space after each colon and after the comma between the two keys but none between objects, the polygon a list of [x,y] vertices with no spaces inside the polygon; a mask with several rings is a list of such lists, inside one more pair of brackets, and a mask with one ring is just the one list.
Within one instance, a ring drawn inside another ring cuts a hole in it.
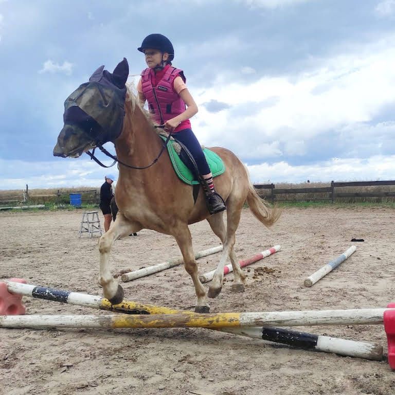
[{"label": "slanting white, black and yellow pole passing beneath the other jump pole", "polygon": [[[84,306],[94,309],[124,312],[130,314],[178,314],[180,311],[166,307],[156,307],[150,304],[141,304],[130,301],[112,306],[109,300],[95,295],[82,294],[78,292],[60,291],[42,286],[23,284],[19,282],[6,281],[8,291],[16,295],[30,296],[39,299],[52,300]],[[182,312],[185,315],[194,315],[193,312]],[[336,353],[339,355],[360,357],[368,360],[380,361],[383,358],[383,348],[379,344],[355,342],[340,338],[313,335],[289,331],[280,328],[220,328],[221,332],[262,339],[265,343],[273,345],[273,342],[289,345],[304,350],[315,350]],[[272,343],[269,343],[272,342]]]}]

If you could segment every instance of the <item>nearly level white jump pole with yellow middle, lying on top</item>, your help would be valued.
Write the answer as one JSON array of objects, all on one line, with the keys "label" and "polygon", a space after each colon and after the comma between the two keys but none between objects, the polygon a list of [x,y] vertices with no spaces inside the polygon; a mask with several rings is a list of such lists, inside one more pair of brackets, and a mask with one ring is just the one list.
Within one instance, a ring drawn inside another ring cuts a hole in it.
[{"label": "nearly level white jump pole with yellow middle, lying on top", "polygon": [[256,326],[378,325],[385,311],[351,309],[217,314],[5,315],[2,328],[241,328]]}]

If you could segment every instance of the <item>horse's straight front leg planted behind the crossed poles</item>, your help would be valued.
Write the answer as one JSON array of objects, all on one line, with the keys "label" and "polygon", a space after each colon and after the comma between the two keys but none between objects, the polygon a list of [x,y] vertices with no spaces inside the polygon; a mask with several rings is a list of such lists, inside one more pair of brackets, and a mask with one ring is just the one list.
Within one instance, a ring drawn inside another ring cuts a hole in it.
[{"label": "horse's straight front leg planted behind the crossed poles", "polygon": [[184,267],[191,276],[196,293],[195,313],[208,313],[210,305],[207,301],[206,291],[199,280],[199,273],[197,272],[197,263],[193,254],[192,237],[188,226],[178,228],[174,234],[175,240],[178,244],[181,254],[184,258]]}]

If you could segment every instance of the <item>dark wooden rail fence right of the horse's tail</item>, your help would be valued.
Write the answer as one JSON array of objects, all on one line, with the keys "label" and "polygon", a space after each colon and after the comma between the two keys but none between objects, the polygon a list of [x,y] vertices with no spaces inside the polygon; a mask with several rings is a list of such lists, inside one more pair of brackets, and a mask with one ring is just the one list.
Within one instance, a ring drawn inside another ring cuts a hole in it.
[{"label": "dark wooden rail fence right of the horse's tail", "polygon": [[[268,194],[264,196],[266,199],[271,201],[320,201],[326,200],[332,203],[339,197],[395,197],[395,191],[383,192],[381,190],[372,190],[367,192],[344,192],[344,187],[378,187],[383,185],[395,185],[395,181],[356,181],[356,182],[331,182],[330,187],[317,187],[317,188],[281,188],[276,189],[274,184],[255,184],[255,189],[258,190],[270,190]],[[338,191],[337,188],[342,188],[342,191]],[[303,196],[302,199],[298,199],[298,194],[318,194],[319,196]],[[280,196],[279,196],[280,195]],[[289,197],[283,197],[283,196]]]}]

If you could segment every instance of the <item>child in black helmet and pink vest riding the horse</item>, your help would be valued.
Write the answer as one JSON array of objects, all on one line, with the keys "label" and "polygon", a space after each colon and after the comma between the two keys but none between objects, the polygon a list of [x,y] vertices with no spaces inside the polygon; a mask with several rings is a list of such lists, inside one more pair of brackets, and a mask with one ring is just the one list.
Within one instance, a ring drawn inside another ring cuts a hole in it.
[{"label": "child in black helmet and pink vest riding the horse", "polygon": [[185,85],[183,70],[171,66],[174,49],[170,40],[162,34],[150,34],[139,48],[146,57],[148,68],[142,71],[137,85],[139,99],[148,101],[151,117],[165,125],[174,138],[181,141],[195,159],[204,186],[210,214],[226,209],[222,197],[214,190],[212,174],[202,147],[191,129],[189,118],[197,113],[197,105]]}]

